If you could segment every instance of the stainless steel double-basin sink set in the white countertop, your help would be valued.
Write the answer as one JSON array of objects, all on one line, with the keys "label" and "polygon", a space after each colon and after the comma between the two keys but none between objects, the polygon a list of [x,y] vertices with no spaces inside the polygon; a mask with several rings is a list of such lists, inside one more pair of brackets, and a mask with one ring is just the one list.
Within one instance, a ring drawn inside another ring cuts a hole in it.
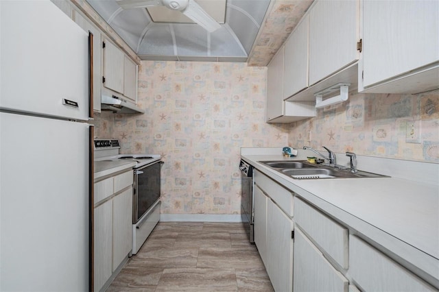
[{"label": "stainless steel double-basin sink set in the white countertop", "polygon": [[366,171],[351,172],[348,168],[336,168],[328,165],[316,165],[305,160],[297,161],[259,161],[263,165],[298,180],[319,178],[388,178],[387,175]]}]

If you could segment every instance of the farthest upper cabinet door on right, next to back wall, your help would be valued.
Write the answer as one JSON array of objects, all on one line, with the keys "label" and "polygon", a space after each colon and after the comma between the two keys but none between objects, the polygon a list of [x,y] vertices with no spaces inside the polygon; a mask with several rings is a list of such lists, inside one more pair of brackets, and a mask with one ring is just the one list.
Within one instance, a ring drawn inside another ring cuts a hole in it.
[{"label": "farthest upper cabinet door on right, next to back wall", "polygon": [[279,49],[268,64],[267,121],[283,115],[283,50]]}]

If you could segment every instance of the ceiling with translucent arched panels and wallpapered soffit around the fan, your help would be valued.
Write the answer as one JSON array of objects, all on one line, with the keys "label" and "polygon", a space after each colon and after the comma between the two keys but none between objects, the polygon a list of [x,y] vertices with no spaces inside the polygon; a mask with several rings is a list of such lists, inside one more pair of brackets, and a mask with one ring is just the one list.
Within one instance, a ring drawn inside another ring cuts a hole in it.
[{"label": "ceiling with translucent arched panels and wallpapered soffit around the fan", "polygon": [[[250,66],[270,62],[313,2],[226,0],[224,23],[209,33],[191,21],[153,22],[147,9],[124,10],[115,0],[86,1],[141,60],[248,62]],[[209,13],[209,5],[215,12],[215,7],[224,6],[218,2],[224,1],[198,3]],[[215,19],[224,19],[224,12],[219,16],[213,12],[210,14]]]}]

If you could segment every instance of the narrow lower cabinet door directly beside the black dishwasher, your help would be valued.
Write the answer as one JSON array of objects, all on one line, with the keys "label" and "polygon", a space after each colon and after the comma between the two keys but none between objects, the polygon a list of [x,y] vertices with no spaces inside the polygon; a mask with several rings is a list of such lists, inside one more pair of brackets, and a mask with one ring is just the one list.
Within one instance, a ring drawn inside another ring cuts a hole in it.
[{"label": "narrow lower cabinet door directly beside the black dishwasher", "polygon": [[256,244],[263,263],[267,263],[267,196],[261,188],[254,186],[254,244]]}]

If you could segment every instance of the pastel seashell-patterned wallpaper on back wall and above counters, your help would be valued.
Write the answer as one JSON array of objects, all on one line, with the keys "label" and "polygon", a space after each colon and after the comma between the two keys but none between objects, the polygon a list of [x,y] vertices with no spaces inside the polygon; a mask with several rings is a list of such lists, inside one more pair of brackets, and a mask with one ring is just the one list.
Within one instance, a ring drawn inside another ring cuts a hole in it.
[{"label": "pastel seashell-patterned wallpaper on back wall and above counters", "polygon": [[[239,214],[240,147],[325,145],[439,162],[439,90],[351,93],[313,119],[268,124],[266,74],[266,67],[245,63],[142,61],[139,106],[145,114],[95,114],[95,135],[119,138],[125,154],[163,156],[161,212],[171,214]],[[406,138],[412,121],[420,121],[420,138]]]}]

